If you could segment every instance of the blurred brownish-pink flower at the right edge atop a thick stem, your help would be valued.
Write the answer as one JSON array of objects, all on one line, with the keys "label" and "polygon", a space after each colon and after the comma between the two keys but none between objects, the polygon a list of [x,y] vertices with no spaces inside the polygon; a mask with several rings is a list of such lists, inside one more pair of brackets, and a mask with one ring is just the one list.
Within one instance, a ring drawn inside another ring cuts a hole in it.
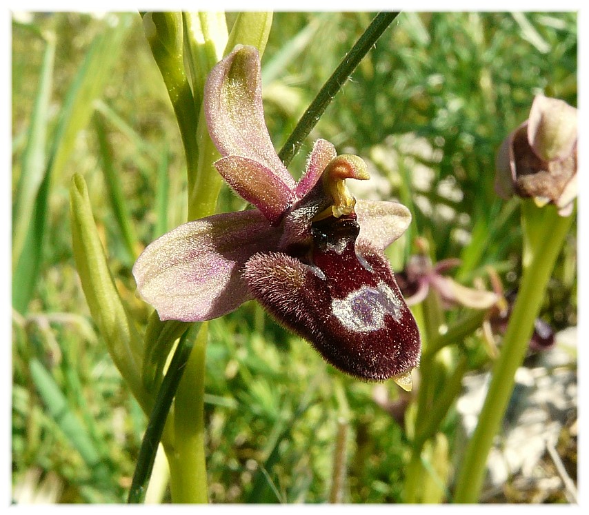
[{"label": "blurred brownish-pink flower at the right edge atop a thick stem", "polygon": [[538,95],[530,117],[503,141],[495,190],[507,199],[532,197],[568,216],[577,196],[577,109]]}]

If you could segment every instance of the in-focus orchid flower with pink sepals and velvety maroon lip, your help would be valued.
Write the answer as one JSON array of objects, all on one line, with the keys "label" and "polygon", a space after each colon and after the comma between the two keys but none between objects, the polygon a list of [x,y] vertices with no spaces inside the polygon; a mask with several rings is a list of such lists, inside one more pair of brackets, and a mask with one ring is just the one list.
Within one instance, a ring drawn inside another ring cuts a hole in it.
[{"label": "in-focus orchid flower with pink sepals and velvety maroon lip", "polygon": [[255,206],[164,234],[133,268],[161,320],[206,321],[256,299],[357,378],[410,387],[417,324],[383,250],[410,221],[403,205],[356,201],[346,179],[368,179],[358,156],[315,142],[295,182],[263,117],[257,50],[237,46],[210,72],[204,110],[223,179]]}]

